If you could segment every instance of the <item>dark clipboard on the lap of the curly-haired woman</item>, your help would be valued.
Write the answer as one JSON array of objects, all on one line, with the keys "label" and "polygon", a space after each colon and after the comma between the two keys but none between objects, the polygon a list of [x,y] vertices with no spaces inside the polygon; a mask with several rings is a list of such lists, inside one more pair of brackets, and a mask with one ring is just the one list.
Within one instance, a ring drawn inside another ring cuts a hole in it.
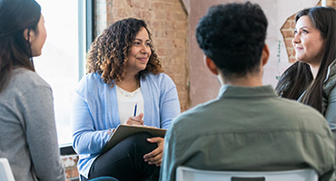
[{"label": "dark clipboard on the lap of the curly-haired woman", "polygon": [[119,125],[112,137],[106,143],[106,146],[103,148],[102,153],[108,151],[111,148],[114,148],[120,141],[124,140],[124,138],[128,138],[136,133],[146,132],[151,134],[153,137],[162,137],[164,138],[165,131],[167,129],[157,129],[155,127],[147,127],[147,126],[130,126],[130,125]]}]

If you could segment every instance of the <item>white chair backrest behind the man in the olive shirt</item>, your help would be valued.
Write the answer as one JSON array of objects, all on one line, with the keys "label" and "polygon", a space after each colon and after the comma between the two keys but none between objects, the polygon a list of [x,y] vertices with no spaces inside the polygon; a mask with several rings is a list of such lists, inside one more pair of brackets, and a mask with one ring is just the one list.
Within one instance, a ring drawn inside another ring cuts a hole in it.
[{"label": "white chair backrest behind the man in the olive shirt", "polygon": [[289,171],[210,171],[177,167],[176,181],[317,181],[313,169]]}]

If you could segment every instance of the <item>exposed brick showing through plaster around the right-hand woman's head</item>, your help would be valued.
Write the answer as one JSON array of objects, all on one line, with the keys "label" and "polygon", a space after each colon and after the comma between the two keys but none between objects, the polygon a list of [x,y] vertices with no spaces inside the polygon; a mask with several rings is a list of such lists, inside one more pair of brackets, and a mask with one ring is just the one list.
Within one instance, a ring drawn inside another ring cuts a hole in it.
[{"label": "exposed brick showing through plaster around the right-hand woman's head", "polygon": [[[321,5],[321,1],[318,5]],[[327,6],[336,8],[336,0],[327,0]],[[286,45],[288,60],[291,63],[296,61],[295,51],[294,48],[292,47],[292,38],[294,35],[294,28],[295,28],[295,15],[296,14],[292,14],[292,16],[287,19],[287,21],[282,25],[281,28],[283,41]]]}]

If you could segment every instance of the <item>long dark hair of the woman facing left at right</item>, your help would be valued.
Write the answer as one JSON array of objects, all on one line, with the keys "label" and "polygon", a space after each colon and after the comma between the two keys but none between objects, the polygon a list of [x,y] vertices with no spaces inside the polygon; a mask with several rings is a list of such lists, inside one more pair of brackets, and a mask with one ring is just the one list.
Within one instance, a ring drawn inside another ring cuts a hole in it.
[{"label": "long dark hair of the woman facing left at right", "polygon": [[336,11],[332,7],[312,7],[304,9],[295,17],[297,22],[301,16],[307,15],[325,40],[325,48],[321,57],[319,71],[313,80],[310,66],[304,62],[295,62],[282,74],[276,90],[283,98],[297,100],[322,110],[322,88],[326,79],[328,67],[336,59]]}]

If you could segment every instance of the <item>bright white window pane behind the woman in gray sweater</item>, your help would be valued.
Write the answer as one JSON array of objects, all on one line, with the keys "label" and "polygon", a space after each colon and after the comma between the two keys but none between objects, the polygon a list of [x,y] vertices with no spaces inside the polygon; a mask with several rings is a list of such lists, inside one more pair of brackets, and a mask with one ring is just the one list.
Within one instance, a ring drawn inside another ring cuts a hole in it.
[{"label": "bright white window pane behind the woman in gray sweater", "polygon": [[47,38],[36,72],[53,89],[58,143],[71,143],[70,105],[78,82],[78,1],[36,0],[41,5]]}]

